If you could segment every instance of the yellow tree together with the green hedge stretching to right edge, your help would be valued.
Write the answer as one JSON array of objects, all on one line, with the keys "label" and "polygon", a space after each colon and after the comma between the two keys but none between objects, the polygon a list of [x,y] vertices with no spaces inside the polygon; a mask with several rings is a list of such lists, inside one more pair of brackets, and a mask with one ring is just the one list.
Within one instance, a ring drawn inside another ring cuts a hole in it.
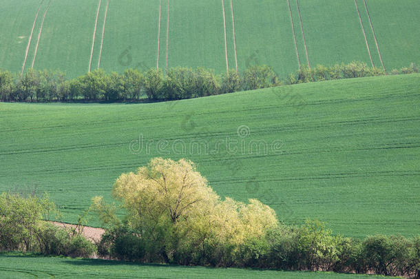
[{"label": "yellow tree together with the green hedge stretching to right edge", "polygon": [[95,197],[92,210],[109,226],[103,257],[178,265],[255,267],[420,276],[420,237],[333,234],[324,223],[279,222],[258,200],[220,198],[191,161],[154,158],[122,174],[112,194],[126,214]]}]

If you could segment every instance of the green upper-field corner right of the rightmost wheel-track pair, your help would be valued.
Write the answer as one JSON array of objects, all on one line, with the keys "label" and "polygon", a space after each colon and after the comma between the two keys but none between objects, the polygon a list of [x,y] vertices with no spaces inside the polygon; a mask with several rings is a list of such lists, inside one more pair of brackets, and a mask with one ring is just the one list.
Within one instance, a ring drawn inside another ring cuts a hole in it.
[{"label": "green upper-field corner right of the rightmost wheel-track pair", "polygon": [[387,70],[420,63],[420,1],[367,0]]}]

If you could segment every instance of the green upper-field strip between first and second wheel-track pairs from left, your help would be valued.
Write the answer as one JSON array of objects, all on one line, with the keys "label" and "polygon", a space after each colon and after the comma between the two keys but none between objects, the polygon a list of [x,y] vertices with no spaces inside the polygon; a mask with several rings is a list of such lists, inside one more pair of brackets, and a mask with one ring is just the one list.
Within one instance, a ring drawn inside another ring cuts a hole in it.
[{"label": "green upper-field strip between first and second wheel-track pairs from left", "polygon": [[[51,1],[45,16],[34,68],[59,69],[68,76],[87,72],[97,5],[96,0]],[[102,27],[99,23],[98,26]],[[97,28],[96,32],[99,29],[101,28]],[[36,39],[33,47],[36,45]]]}]

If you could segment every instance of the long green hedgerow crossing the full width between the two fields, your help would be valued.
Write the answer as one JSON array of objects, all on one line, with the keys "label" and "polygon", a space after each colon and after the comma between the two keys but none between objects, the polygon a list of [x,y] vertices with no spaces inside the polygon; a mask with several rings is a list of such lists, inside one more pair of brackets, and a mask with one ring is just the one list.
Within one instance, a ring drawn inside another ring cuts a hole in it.
[{"label": "long green hedgerow crossing the full width between the two fields", "polygon": [[[413,63],[391,74],[419,72]],[[363,76],[379,76],[386,72],[370,68],[366,63],[352,62],[326,67],[305,65],[280,81],[280,76],[266,65],[252,65],[242,73],[230,70],[214,74],[198,68],[171,68],[164,75],[161,70],[146,72],[125,70],[123,74],[94,70],[77,79],[66,79],[63,72],[28,70],[23,75],[0,70],[0,100],[18,102],[52,101],[149,101],[190,99],[201,96],[255,90],[282,84],[306,83]]]}]

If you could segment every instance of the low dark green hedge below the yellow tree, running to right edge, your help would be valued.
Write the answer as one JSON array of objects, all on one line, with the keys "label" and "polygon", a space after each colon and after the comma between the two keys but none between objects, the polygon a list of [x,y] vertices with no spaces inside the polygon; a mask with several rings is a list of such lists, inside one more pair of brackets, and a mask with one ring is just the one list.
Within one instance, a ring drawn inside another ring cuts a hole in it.
[{"label": "low dark green hedge below the yellow tree, running to right edge", "polygon": [[195,245],[187,242],[182,238],[150,242],[139,231],[122,225],[107,229],[97,245],[99,256],[136,262],[420,278],[419,236],[375,235],[359,240],[334,236],[318,220],[306,220],[299,227],[282,226],[267,231],[264,238],[248,238],[236,245],[210,237]]}]

